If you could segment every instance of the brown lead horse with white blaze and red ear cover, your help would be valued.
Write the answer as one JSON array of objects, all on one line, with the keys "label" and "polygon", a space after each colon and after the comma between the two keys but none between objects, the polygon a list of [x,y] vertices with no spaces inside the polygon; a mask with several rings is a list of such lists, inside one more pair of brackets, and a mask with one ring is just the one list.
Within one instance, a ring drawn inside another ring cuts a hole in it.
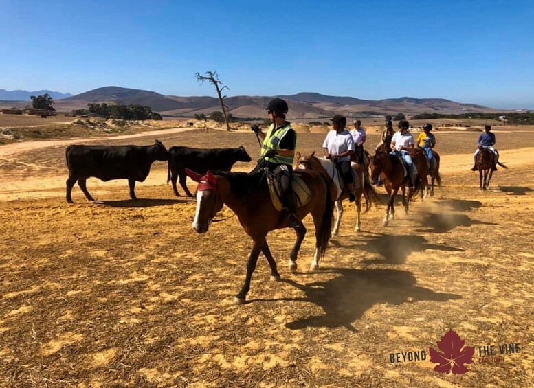
[{"label": "brown lead horse with white blaze and red ear cover", "polygon": [[[254,240],[247,264],[245,283],[234,299],[236,304],[243,304],[260,252],[263,252],[267,262],[269,262],[271,279],[280,279],[266,237],[269,231],[288,227],[287,214],[279,212],[274,207],[267,187],[267,179],[265,179],[263,172],[250,174],[245,172],[216,172],[212,174],[208,171],[204,176],[191,170],[187,170],[187,173],[191,179],[199,182],[195,194],[197,211],[194,214],[193,229],[198,233],[207,232],[214,216],[222,209],[223,205],[227,205],[236,214],[245,232]],[[314,171],[299,171],[294,174],[300,176],[306,183],[311,192],[311,198],[308,203],[297,210],[299,220],[299,225],[295,228],[297,240],[289,260],[289,269],[293,272],[297,269],[298,251],[306,234],[306,227],[302,223],[302,218],[307,214],[311,214],[313,217],[315,255],[311,269],[317,269],[319,260],[324,255],[331,237],[334,207],[329,183],[321,174]]]}]

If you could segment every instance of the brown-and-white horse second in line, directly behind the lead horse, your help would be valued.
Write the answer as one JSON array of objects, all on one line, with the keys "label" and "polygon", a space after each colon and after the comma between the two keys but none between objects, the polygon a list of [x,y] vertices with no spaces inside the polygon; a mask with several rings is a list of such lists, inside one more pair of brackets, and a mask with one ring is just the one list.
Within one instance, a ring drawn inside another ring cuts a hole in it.
[{"label": "brown-and-white horse second in line, directly behind the lead horse", "polygon": [[[340,182],[340,172],[337,170],[335,163],[329,159],[318,158],[315,156],[315,152],[311,152],[310,155],[302,156],[300,152],[296,152],[295,160],[297,163],[298,169],[307,169],[320,172],[323,176],[326,176],[328,181],[331,183],[331,186],[335,190],[335,207],[337,209],[337,218],[335,219],[333,235],[337,235],[337,232],[340,230],[341,218],[343,216],[343,204],[342,201],[345,198],[348,198],[348,190],[345,185],[342,185]],[[361,231],[361,196],[363,195],[366,200],[366,209],[364,212],[367,212],[372,203],[378,203],[379,197],[375,189],[370,184],[370,181],[367,175],[364,173],[364,169],[359,166],[358,163],[352,163],[352,168],[357,179],[357,187],[355,185],[354,194],[356,196],[355,205],[357,212],[356,227],[355,231]]]}]

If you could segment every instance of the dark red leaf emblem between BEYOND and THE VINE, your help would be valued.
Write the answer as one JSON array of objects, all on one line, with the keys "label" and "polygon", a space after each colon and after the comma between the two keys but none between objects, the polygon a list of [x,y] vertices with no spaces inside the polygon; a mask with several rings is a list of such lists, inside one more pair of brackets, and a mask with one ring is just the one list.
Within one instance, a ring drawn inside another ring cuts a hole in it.
[{"label": "dark red leaf emblem between BEYOND and THE VINE", "polygon": [[449,374],[463,374],[469,369],[464,364],[473,363],[473,354],[475,348],[466,346],[463,348],[465,341],[460,339],[460,336],[449,329],[449,331],[441,337],[438,341],[438,347],[443,353],[438,352],[433,347],[430,347],[430,362],[438,363],[434,370],[439,373]]}]

